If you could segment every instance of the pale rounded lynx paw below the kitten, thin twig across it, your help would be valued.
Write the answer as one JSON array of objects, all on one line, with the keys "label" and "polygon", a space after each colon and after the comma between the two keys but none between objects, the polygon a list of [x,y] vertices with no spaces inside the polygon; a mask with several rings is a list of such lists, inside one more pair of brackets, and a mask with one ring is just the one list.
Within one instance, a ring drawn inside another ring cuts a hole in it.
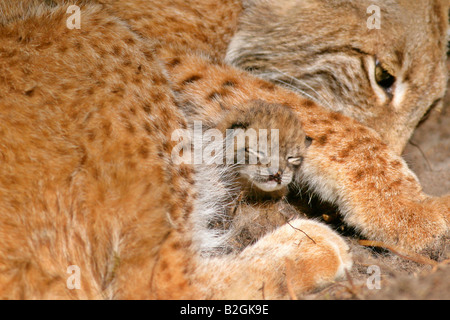
[{"label": "pale rounded lynx paw below the kitten, thin twig across it", "polygon": [[352,259],[348,245],[330,228],[297,219],[246,248],[238,264],[246,272],[237,291],[260,299],[263,287],[264,298],[282,299],[344,276]]}]

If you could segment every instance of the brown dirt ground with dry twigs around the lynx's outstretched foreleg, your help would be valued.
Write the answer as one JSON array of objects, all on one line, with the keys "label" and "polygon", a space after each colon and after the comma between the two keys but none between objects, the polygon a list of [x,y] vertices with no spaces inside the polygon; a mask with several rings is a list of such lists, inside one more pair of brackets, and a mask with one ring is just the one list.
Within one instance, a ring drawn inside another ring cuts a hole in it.
[{"label": "brown dirt ground with dry twigs around the lynx's outstretched foreleg", "polygon": [[[450,59],[447,65],[450,70]],[[450,193],[450,81],[448,90],[443,109],[433,111],[418,127],[403,155],[424,191],[434,196]],[[353,238],[348,241],[355,263],[347,279],[302,298],[450,300],[450,265],[442,263],[450,259],[450,236],[432,254],[441,262],[437,267],[388,250],[362,247]]]}]

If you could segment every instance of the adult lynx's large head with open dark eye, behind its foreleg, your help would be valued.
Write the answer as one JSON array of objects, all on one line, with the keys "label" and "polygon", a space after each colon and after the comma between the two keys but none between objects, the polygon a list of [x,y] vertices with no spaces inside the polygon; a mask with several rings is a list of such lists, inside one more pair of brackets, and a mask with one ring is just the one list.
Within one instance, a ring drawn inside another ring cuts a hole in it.
[{"label": "adult lynx's large head with open dark eye, behind its foreleg", "polygon": [[[358,119],[398,153],[427,110],[442,103],[447,1],[243,3],[229,63]],[[380,29],[371,29],[375,18]]]}]

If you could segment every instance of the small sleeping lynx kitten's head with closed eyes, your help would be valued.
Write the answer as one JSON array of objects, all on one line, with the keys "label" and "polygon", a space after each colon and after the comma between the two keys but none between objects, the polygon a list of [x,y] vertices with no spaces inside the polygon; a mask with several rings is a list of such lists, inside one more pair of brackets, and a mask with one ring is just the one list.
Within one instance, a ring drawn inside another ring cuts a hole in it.
[{"label": "small sleeping lynx kitten's head with closed eyes", "polygon": [[228,117],[227,129],[232,130],[227,141],[234,139],[235,175],[240,184],[256,192],[286,190],[311,140],[288,107],[261,101],[251,104]]}]

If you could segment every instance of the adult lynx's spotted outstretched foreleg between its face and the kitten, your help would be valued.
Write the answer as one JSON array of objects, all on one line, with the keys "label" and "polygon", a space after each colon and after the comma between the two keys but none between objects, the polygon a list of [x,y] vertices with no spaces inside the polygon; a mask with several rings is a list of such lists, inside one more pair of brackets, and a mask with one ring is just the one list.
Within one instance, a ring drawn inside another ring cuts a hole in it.
[{"label": "adult lynx's spotted outstretched foreleg between its face and the kitten", "polygon": [[448,231],[449,196],[424,194],[406,163],[373,130],[230,66],[197,56],[179,59],[170,50],[162,56],[191,120],[214,123],[221,113],[254,99],[292,107],[313,138],[301,181],[336,203],[363,235],[420,250]]}]

